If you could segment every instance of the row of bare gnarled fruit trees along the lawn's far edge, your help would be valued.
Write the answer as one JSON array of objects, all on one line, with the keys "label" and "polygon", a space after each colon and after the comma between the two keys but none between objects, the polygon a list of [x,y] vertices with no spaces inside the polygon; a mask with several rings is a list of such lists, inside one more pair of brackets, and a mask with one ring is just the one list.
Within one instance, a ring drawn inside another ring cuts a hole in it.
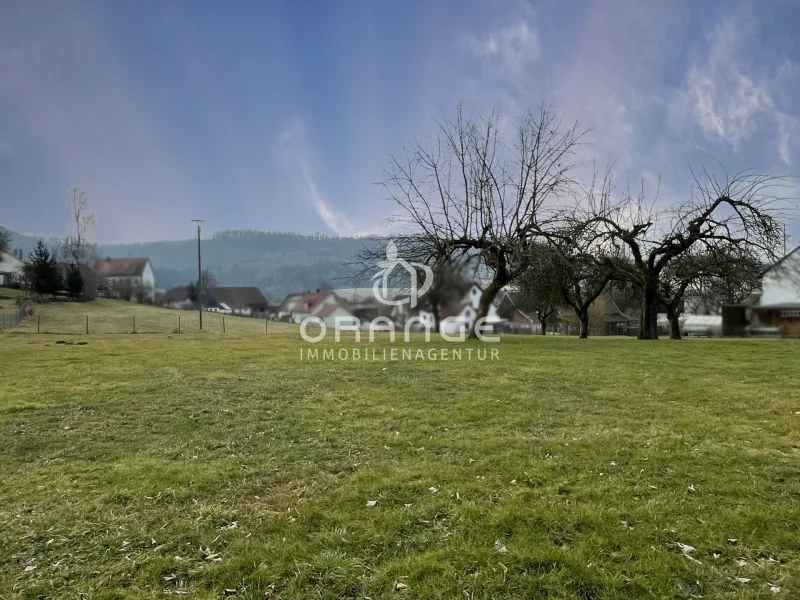
[{"label": "row of bare gnarled fruit trees along the lawn's far edge", "polygon": [[[783,243],[786,178],[690,169],[686,198],[664,202],[655,190],[648,200],[643,186],[633,192],[610,170],[598,176],[584,164],[586,132],[550,105],[511,125],[461,107],[436,124],[433,136],[390,156],[384,187],[399,209],[391,237],[407,260],[479,261],[488,280],[479,317],[514,284],[539,305],[543,325],[566,305],[586,336],[589,307],[618,282],[637,294],[640,338],[658,337],[658,312],[680,337],[687,291],[740,298]],[[367,268],[376,247],[362,254]]]}]

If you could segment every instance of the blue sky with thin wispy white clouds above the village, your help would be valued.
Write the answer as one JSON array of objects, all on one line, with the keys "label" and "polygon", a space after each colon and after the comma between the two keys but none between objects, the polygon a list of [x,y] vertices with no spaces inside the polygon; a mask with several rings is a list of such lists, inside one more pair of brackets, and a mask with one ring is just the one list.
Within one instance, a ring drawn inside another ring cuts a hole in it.
[{"label": "blue sky with thin wispy white clouds above the village", "polygon": [[[0,3],[0,224],[98,241],[380,230],[389,152],[544,99],[680,199],[692,164],[800,174],[794,0]],[[800,223],[791,224],[800,235]]]}]

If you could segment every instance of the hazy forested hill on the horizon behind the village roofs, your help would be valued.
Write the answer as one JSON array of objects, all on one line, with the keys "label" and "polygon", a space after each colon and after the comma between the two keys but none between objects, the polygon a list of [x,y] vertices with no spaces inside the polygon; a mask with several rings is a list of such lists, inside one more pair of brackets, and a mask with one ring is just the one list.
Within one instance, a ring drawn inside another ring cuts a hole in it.
[{"label": "hazy forested hill on the horizon behind the village roofs", "polygon": [[[37,236],[13,231],[11,246],[33,250]],[[54,246],[57,238],[44,237]],[[367,243],[362,238],[303,235],[275,231],[222,231],[203,238],[203,268],[220,285],[254,285],[273,302],[289,292],[314,289],[323,282],[346,287],[356,269],[356,254]],[[197,240],[131,244],[98,244],[98,257],[147,257],[156,272],[156,285],[170,288],[197,278]]]}]

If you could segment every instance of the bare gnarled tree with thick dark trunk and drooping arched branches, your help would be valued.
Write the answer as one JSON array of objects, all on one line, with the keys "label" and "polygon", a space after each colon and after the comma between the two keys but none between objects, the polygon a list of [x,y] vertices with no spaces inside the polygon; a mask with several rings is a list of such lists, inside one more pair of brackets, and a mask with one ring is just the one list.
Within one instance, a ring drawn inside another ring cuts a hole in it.
[{"label": "bare gnarled tree with thick dark trunk and drooping arched branches", "polygon": [[617,276],[634,283],[642,295],[640,339],[658,338],[659,285],[676,260],[692,251],[749,252],[768,259],[781,244],[783,199],[776,192],[785,187],[785,178],[752,171],[730,176],[724,169],[702,173],[692,172],[688,200],[662,211],[655,209],[655,200],[648,206],[643,191],[634,196],[623,190],[615,200],[610,172],[597,195],[589,197],[584,222],[598,241],[626,250],[630,258]]}]

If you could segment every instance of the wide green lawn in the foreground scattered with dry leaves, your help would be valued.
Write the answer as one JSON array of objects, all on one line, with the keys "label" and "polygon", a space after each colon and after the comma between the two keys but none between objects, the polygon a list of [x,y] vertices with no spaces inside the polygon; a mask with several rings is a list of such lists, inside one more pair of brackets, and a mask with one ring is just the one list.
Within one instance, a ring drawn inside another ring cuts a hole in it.
[{"label": "wide green lawn in the foreground scattered with dry leaves", "polygon": [[58,339],[0,338],[0,598],[800,596],[798,343]]}]

